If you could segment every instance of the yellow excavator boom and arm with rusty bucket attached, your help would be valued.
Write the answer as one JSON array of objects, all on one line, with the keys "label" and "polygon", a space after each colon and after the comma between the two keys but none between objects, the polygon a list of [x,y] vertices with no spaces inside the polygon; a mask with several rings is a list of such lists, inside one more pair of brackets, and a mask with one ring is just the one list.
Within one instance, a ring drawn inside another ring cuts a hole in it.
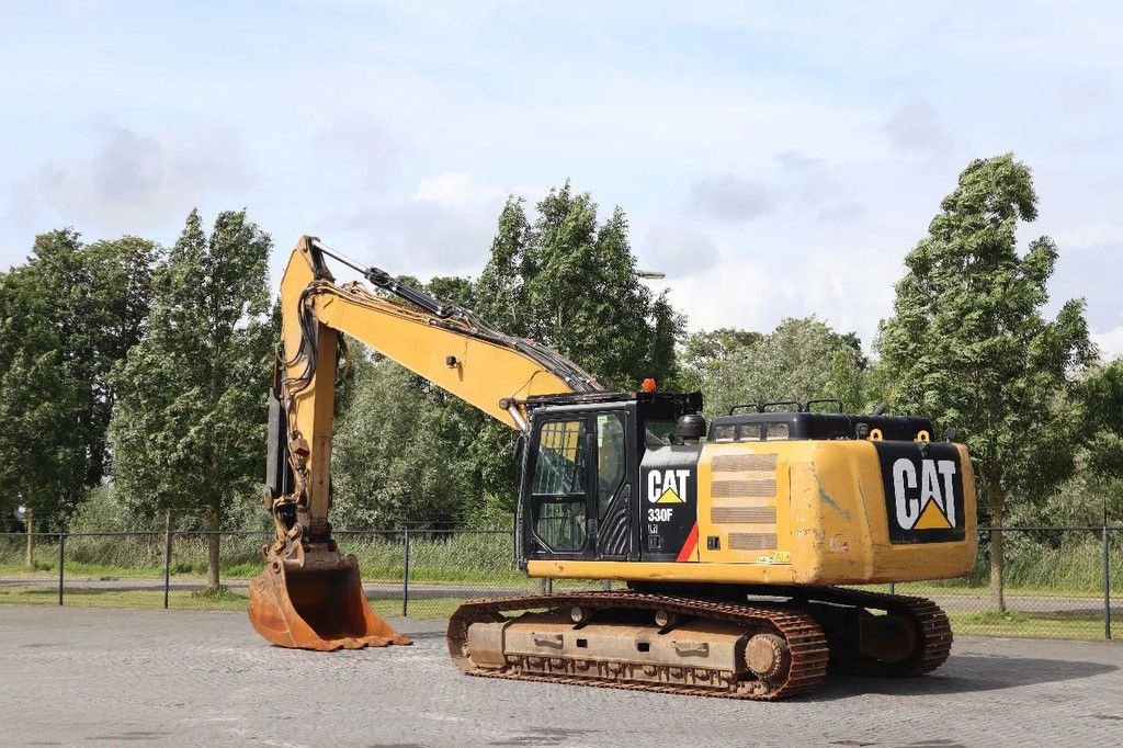
[{"label": "yellow excavator boom and arm with rusty bucket attached", "polygon": [[[325,255],[360,272],[382,293],[336,283]],[[276,540],[263,548],[266,568],[250,585],[250,621],[284,647],[408,644],[371,609],[358,564],[340,556],[328,522],[343,334],[522,431],[528,399],[602,387],[546,346],[495,330],[471,311],[359,266],[312,237],[303,237],[290,257],[281,307],[265,490]]]}]

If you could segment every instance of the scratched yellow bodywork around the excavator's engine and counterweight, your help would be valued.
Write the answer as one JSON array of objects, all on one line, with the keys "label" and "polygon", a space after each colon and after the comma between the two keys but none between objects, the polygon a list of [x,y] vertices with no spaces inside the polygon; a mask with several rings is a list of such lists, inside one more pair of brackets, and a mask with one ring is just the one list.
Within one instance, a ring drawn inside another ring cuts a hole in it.
[{"label": "scratched yellow bodywork around the excavator's engine and counterweight", "polygon": [[[964,482],[965,532],[959,541],[889,542],[882,467],[870,441],[707,444],[699,464],[699,563],[531,560],[528,572],[542,577],[814,585],[962,576],[975,565],[977,551],[975,477],[966,448],[957,449]],[[714,458],[749,454],[776,455],[775,495],[715,499]],[[714,502],[725,508],[772,504],[776,521],[713,522]],[[775,548],[730,548],[730,535],[755,529],[767,530],[761,535],[775,531]],[[720,549],[707,549],[709,537],[719,538]]]}]

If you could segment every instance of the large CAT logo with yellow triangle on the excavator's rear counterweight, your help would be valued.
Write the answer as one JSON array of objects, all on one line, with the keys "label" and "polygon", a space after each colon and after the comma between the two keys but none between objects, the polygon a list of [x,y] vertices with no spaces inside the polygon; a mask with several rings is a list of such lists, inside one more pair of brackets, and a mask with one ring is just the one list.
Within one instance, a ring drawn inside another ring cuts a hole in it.
[{"label": "large CAT logo with yellow triangle on the excavator's rear counterweight", "polygon": [[[951,459],[901,457],[893,463],[893,499],[902,530],[952,530],[956,528],[956,463]],[[920,492],[916,492],[916,489]]]}]

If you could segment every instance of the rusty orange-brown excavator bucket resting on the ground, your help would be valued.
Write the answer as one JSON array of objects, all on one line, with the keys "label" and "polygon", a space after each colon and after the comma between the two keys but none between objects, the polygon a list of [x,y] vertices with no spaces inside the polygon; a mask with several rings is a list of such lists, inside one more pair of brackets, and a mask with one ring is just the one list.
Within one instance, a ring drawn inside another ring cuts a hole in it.
[{"label": "rusty orange-brown excavator bucket resting on the ground", "polygon": [[412,644],[371,608],[354,556],[305,568],[271,560],[249,584],[249,622],[268,641],[296,649]]}]

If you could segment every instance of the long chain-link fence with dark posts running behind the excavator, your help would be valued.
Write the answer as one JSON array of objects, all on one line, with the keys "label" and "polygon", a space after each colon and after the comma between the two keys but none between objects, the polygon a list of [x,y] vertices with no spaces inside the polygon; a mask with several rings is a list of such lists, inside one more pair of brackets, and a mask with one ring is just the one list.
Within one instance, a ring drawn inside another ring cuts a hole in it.
[{"label": "long chain-link fence with dark posts running behind the excavator", "polygon": [[[1123,626],[1123,528],[1002,529],[1001,594],[990,584],[998,531],[980,530],[978,563],[966,577],[874,589],[933,599],[961,635],[1103,639],[1113,622],[1116,632]],[[445,618],[473,598],[619,586],[528,578],[514,564],[510,530],[335,535],[358,558],[383,615]],[[0,535],[0,604],[243,610],[271,539],[248,531]]]}]

